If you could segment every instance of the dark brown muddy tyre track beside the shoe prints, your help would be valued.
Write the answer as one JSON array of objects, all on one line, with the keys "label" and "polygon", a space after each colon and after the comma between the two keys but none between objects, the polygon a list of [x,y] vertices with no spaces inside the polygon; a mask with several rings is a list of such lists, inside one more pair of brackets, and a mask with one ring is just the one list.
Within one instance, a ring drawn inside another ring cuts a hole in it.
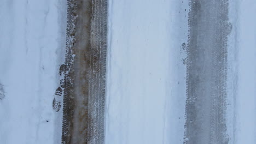
[{"label": "dark brown muddy tyre track beside the shoe prints", "polygon": [[104,143],[107,0],[68,0],[62,143]]}]

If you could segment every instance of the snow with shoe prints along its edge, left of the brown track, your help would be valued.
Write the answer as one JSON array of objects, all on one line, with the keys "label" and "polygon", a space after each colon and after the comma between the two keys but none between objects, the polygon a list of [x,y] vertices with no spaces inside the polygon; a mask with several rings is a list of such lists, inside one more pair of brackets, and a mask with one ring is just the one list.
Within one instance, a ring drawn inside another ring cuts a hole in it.
[{"label": "snow with shoe prints along its edge, left of the brown track", "polygon": [[60,143],[62,112],[52,104],[65,58],[66,9],[61,0],[1,1],[0,143]]}]

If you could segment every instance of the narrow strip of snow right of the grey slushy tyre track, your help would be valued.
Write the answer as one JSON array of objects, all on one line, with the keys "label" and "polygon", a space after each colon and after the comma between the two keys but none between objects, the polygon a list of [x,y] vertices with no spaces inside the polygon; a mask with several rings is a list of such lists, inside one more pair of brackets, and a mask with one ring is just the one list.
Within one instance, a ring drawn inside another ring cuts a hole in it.
[{"label": "narrow strip of snow right of the grey slushy tyre track", "polygon": [[[234,143],[256,141],[256,1],[236,1],[237,95]],[[234,10],[234,11],[235,11]],[[232,55],[232,54],[231,54]]]}]

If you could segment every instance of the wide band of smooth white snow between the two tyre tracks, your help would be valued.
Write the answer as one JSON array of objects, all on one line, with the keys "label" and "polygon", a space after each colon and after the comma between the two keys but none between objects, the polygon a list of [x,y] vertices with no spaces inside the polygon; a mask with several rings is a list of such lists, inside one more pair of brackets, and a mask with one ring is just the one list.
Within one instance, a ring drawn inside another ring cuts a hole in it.
[{"label": "wide band of smooth white snow between the two tyre tracks", "polygon": [[109,1],[106,143],[183,143],[187,12],[188,1]]}]

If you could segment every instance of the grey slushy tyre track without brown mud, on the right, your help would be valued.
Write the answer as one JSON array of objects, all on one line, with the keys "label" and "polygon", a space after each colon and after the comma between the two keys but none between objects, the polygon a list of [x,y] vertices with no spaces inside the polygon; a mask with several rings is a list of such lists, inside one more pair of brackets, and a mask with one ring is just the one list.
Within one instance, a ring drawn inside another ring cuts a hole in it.
[{"label": "grey slushy tyre track without brown mud, on the right", "polygon": [[184,143],[228,143],[228,0],[190,0]]}]

